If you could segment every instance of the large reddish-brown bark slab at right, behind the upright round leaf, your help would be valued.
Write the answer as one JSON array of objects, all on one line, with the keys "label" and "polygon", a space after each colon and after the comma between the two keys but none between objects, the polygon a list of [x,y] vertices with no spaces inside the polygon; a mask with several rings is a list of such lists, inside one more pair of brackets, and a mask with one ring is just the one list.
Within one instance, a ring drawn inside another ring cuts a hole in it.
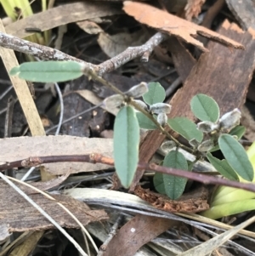
[{"label": "large reddish-brown bark slab at right, behind the upright round leaf", "polygon": [[[201,55],[184,82],[184,87],[170,101],[173,109],[169,117],[195,120],[190,111],[190,100],[195,94],[207,94],[216,100],[221,115],[236,107],[241,108],[244,104],[255,67],[255,32],[251,29],[243,32],[235,24],[229,24],[229,21],[224,21],[218,32],[241,42],[246,50],[231,52],[229,48],[210,42],[210,52]],[[140,145],[139,161],[149,162],[164,139],[165,136],[158,131],[150,132]],[[142,175],[143,172],[135,174],[130,191],[134,190]]]}]

